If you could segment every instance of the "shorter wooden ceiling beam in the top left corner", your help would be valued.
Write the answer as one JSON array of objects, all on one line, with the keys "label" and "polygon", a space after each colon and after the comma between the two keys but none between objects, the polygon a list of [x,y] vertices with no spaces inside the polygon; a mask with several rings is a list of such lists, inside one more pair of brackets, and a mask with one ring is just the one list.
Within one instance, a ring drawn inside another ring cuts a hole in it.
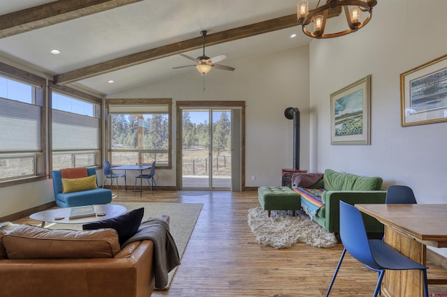
[{"label": "shorter wooden ceiling beam in the top left corner", "polygon": [[26,8],[0,15],[0,38],[74,20],[138,1],[142,0],[59,0]]}]

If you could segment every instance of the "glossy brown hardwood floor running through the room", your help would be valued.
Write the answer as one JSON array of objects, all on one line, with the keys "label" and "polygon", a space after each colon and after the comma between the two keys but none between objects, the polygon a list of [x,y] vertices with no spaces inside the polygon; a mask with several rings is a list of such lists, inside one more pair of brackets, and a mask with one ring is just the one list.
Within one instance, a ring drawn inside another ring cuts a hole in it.
[{"label": "glossy brown hardwood floor running through the room", "polygon": [[[249,208],[258,206],[257,192],[212,192],[203,196],[182,196],[177,192],[114,191],[114,201],[160,201],[202,203],[182,264],[170,289],[152,296],[325,296],[343,247],[314,248],[298,243],[275,250],[259,245],[247,224]],[[39,224],[24,218],[17,222]],[[430,265],[429,277],[447,278],[447,271]],[[330,296],[372,296],[377,274],[349,254]],[[433,296],[447,296],[447,286],[430,285]]]}]

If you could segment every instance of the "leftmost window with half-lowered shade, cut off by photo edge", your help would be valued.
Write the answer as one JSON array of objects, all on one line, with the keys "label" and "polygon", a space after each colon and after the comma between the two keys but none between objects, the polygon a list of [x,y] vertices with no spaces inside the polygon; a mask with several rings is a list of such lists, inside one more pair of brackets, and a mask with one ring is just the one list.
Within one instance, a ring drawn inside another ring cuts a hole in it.
[{"label": "leftmost window with half-lowered shade, cut off by photo edge", "polygon": [[3,185],[8,185],[6,181],[44,174],[43,85],[45,79],[0,63],[0,182]]}]

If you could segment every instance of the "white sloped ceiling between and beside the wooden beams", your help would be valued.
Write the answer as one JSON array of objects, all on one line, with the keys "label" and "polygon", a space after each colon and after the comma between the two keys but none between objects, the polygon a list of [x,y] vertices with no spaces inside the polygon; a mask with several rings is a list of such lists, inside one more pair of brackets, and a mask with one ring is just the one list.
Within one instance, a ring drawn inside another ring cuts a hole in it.
[{"label": "white sloped ceiling between and beside the wooden beams", "polygon": [[[17,59],[47,74],[57,75],[154,47],[196,38],[200,36],[202,30],[207,30],[208,34],[211,34],[292,15],[296,12],[297,1],[144,0],[1,38],[0,55]],[[0,0],[1,14],[49,2],[52,1]],[[290,38],[291,33],[297,33],[298,36]],[[301,32],[300,26],[295,26],[206,47],[205,53],[207,56],[226,54],[228,58],[219,63],[236,67],[240,59],[298,47],[309,42],[310,38]],[[50,50],[53,49],[60,50],[61,54],[50,54]],[[202,50],[185,54],[196,57],[202,54]],[[179,55],[168,56],[83,79],[76,84],[108,95],[134,86],[153,83],[158,79],[166,79],[171,75],[200,75],[193,67],[172,69],[191,63],[194,62]],[[228,75],[231,73],[228,72]],[[110,79],[115,83],[108,84]]]}]

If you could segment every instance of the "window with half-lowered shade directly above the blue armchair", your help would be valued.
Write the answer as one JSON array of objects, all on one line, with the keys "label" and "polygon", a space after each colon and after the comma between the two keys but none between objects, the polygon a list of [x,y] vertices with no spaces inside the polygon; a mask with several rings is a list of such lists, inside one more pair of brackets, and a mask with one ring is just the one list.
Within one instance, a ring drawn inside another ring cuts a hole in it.
[{"label": "window with half-lowered shade directly above the blue armchair", "polygon": [[52,169],[100,165],[101,105],[85,98],[87,94],[72,96],[53,87]]}]

